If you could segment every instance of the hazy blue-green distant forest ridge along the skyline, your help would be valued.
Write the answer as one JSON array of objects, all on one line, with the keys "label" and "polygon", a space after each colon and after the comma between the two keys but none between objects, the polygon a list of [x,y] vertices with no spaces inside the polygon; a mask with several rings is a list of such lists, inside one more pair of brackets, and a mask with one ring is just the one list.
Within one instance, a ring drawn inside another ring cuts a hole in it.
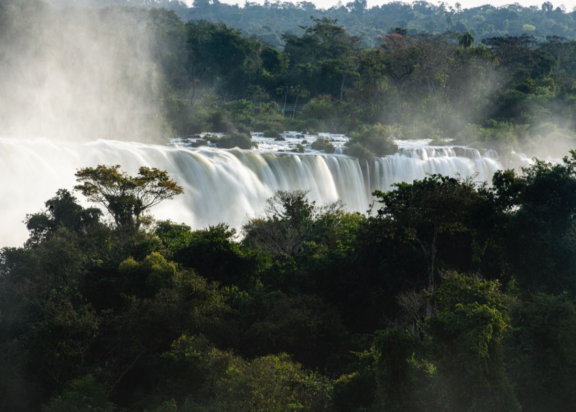
[{"label": "hazy blue-green distant forest ridge along the skyline", "polygon": [[551,2],[524,7],[518,3],[495,7],[484,5],[463,9],[422,0],[391,2],[367,7],[366,0],[343,3],[329,9],[317,9],[308,1],[297,3],[265,1],[263,5],[246,1],[244,5],[228,5],[218,0],[194,0],[193,6],[176,0],[47,0],[60,7],[164,7],[173,10],[184,21],[207,20],[223,22],[276,46],[283,46],[282,35],[300,35],[299,25],[308,25],[310,16],[338,19],[352,35],[361,37],[364,45],[377,44],[375,36],[385,35],[391,28],[405,28],[409,35],[469,31],[475,39],[522,33],[536,39],[549,36],[576,38],[576,11],[554,7]]}]

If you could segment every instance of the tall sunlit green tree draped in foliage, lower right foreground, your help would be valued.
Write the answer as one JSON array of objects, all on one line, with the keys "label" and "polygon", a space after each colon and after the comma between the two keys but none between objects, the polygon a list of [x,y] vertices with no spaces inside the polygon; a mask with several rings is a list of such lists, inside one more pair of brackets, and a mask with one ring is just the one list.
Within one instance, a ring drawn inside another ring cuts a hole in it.
[{"label": "tall sunlit green tree draped in foliage, lower right foreground", "polygon": [[438,402],[469,411],[520,410],[506,375],[503,343],[510,327],[498,282],[446,273],[427,319],[438,350]]}]

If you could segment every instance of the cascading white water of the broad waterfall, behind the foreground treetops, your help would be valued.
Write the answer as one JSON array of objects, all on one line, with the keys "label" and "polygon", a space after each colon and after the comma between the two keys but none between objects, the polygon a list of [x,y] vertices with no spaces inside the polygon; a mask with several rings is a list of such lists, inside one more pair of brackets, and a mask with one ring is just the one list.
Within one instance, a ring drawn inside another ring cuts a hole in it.
[{"label": "cascading white water of the broad waterfall, behind the foreground treetops", "polygon": [[463,176],[478,172],[478,179],[491,179],[501,168],[491,155],[449,148],[403,149],[377,158],[368,177],[357,159],[328,154],[0,138],[0,247],[21,244],[27,236],[22,224],[26,213],[42,210],[59,188],[71,191],[77,169],[98,164],[119,164],[130,174],[141,166],[168,171],[184,187],[184,195],[154,207],[158,219],[192,228],[218,222],[238,228],[247,215],[261,213],[276,190],[310,190],[309,198],[319,203],[341,199],[348,210],[363,212],[374,188],[388,190],[395,182],[422,179],[425,172]]}]

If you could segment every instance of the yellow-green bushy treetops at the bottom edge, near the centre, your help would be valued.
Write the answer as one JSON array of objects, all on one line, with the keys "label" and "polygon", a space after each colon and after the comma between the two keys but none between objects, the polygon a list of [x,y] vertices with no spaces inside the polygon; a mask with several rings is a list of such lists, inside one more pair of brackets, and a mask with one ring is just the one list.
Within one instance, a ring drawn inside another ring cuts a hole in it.
[{"label": "yellow-green bushy treetops at the bottom edge, near the centre", "polygon": [[248,362],[211,347],[202,337],[182,336],[164,357],[184,366],[180,379],[202,388],[187,397],[183,410],[325,410],[331,400],[327,379],[283,353]]}]

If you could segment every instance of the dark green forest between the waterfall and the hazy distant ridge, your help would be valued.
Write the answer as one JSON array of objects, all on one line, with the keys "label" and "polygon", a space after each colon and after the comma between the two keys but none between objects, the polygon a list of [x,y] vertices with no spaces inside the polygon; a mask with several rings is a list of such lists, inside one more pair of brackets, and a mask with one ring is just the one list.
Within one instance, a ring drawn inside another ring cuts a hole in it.
[{"label": "dark green forest between the waterfall and the hazy distant ridge", "polygon": [[[448,14],[440,18],[442,24],[457,20],[454,10],[441,8],[438,14],[429,15],[431,9],[432,6],[424,13],[422,10],[414,12],[403,21],[411,20],[415,15],[430,18],[443,13]],[[340,21],[354,14],[346,10]],[[251,12],[245,10],[245,13]],[[332,12],[336,13],[336,9]],[[394,13],[407,13],[407,10]],[[517,16],[519,12],[515,9],[511,13]],[[529,20],[532,14],[530,12],[524,19]],[[476,25],[485,18],[478,14],[468,17],[469,25]],[[291,118],[303,120],[298,124],[306,125],[295,129],[342,133],[354,130],[359,122],[367,125],[381,122],[402,123],[412,128],[434,125],[452,134],[468,122],[483,124],[490,118],[511,124],[553,119],[557,107],[570,105],[573,93],[569,83],[562,84],[559,76],[570,70],[573,44],[569,41],[547,37],[545,42],[537,44],[534,37],[519,35],[525,30],[517,23],[514,23],[514,30],[518,33],[502,36],[501,31],[487,29],[488,24],[471,29],[461,20],[448,24],[446,29],[431,30],[429,26],[435,23],[427,21],[410,30],[389,24],[376,31],[374,27],[380,25],[381,18],[379,16],[372,26],[360,31],[372,33],[370,36],[381,42],[379,48],[361,49],[358,37],[346,32],[333,18],[323,16],[313,17],[310,26],[302,22],[300,27],[304,32],[301,36],[292,28],[285,31],[283,52],[253,38],[240,38],[239,32],[222,24],[206,21],[190,24],[188,30],[193,35],[188,41],[188,50],[193,63],[188,85],[195,96],[191,102],[194,109],[180,103],[190,95],[184,90],[181,95],[176,96],[176,93],[169,104],[169,107],[181,108],[168,117],[179,119],[173,123],[178,125],[180,133],[199,131],[202,127],[203,130],[211,128],[225,132],[250,123],[258,125],[255,130],[272,130],[259,126],[267,120],[256,119],[264,112],[266,116],[274,117],[274,111],[263,109],[266,96],[276,95],[274,104],[279,108],[287,100],[298,104],[309,94],[310,100],[304,101],[304,108],[298,114],[296,109],[291,113]],[[510,20],[506,18],[505,21],[503,27],[510,27]],[[238,24],[237,18],[233,24]],[[388,27],[395,26],[391,32],[381,35]],[[542,26],[540,23],[534,25]],[[253,30],[253,26],[249,30]],[[454,30],[462,35],[454,35]],[[430,35],[432,32],[444,34]],[[485,39],[484,44],[474,47],[474,37],[478,36]],[[230,42],[223,48],[237,59],[237,69],[226,71],[221,66],[226,67],[229,62],[219,52],[211,52],[210,47],[221,44],[222,39]],[[366,39],[364,46],[368,46],[367,43],[372,46],[373,39]],[[200,81],[209,85],[208,90],[197,86]],[[221,93],[225,86],[226,93],[233,94],[231,102],[223,100],[210,110],[205,104],[196,104],[196,99],[202,99],[203,93]],[[249,108],[251,102],[252,109]],[[257,102],[260,103],[256,107]],[[565,111],[564,115],[571,116],[570,111]],[[204,120],[192,120],[195,116]],[[275,120],[279,120],[278,112]],[[290,128],[293,127],[285,129]]]}]

